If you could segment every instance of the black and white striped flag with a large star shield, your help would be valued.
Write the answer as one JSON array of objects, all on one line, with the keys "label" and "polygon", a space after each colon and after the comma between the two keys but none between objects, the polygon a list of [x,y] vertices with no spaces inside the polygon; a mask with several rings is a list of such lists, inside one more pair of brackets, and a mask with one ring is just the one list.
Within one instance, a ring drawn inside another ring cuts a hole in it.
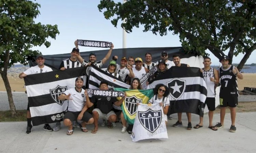
[{"label": "black and white striped flag with a large star shield", "polygon": [[170,90],[168,115],[184,112],[203,117],[203,104],[207,96],[207,87],[199,68],[173,66],[165,74],[159,75],[152,81],[148,85],[148,89],[162,83]]}]

